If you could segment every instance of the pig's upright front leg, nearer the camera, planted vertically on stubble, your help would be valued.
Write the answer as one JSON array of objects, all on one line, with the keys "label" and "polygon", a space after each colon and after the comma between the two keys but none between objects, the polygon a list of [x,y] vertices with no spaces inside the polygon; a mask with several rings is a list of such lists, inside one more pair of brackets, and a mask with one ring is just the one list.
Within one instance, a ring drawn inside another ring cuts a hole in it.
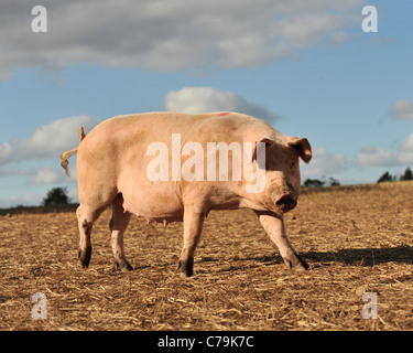
[{"label": "pig's upright front leg, nearer the camera, planted vertically on stubble", "polygon": [[187,278],[193,275],[194,253],[199,243],[203,232],[205,214],[197,212],[192,207],[184,211],[184,247],[180,257],[181,278]]}]

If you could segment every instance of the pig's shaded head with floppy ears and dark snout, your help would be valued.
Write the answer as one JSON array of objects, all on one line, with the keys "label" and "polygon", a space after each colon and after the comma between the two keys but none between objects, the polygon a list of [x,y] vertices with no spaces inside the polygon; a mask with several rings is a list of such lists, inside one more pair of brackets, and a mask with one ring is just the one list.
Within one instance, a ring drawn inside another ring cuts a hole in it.
[{"label": "pig's shaded head with floppy ears and dark snout", "polygon": [[312,148],[306,138],[296,137],[278,141],[264,138],[258,142],[264,143],[256,143],[252,159],[257,161],[258,148],[265,148],[265,165],[258,159],[258,168],[265,169],[265,186],[257,197],[265,208],[281,215],[296,206],[301,188],[298,159],[308,163]]}]

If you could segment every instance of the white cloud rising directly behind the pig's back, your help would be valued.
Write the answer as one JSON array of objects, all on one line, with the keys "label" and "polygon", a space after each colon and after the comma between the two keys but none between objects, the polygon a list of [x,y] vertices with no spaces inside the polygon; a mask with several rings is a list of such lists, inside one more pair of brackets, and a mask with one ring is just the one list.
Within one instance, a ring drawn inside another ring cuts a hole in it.
[{"label": "white cloud rising directly behind the pig's back", "polygon": [[164,98],[165,109],[183,113],[237,111],[274,122],[280,117],[265,106],[252,103],[232,93],[211,87],[184,87],[171,90]]}]

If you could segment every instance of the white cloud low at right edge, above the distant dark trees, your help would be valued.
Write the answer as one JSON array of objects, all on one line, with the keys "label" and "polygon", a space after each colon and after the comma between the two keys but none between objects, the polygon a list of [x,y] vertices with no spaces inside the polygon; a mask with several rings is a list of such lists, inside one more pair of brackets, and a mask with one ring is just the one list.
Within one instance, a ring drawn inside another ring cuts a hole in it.
[{"label": "white cloud low at right edge, above the distant dark trees", "polygon": [[413,163],[413,133],[394,151],[367,146],[356,156],[357,167],[396,167]]}]

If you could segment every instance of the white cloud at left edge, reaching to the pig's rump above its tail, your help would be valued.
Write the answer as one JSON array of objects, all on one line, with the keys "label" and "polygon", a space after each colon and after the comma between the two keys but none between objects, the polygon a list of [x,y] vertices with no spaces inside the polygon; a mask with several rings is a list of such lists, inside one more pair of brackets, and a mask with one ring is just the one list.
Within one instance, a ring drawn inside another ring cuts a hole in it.
[{"label": "white cloud at left edge, reaching to the pig's rump above its tail", "polygon": [[87,115],[62,118],[36,128],[28,139],[11,139],[0,143],[0,165],[23,160],[58,158],[78,145],[77,129],[91,130],[98,119]]}]

